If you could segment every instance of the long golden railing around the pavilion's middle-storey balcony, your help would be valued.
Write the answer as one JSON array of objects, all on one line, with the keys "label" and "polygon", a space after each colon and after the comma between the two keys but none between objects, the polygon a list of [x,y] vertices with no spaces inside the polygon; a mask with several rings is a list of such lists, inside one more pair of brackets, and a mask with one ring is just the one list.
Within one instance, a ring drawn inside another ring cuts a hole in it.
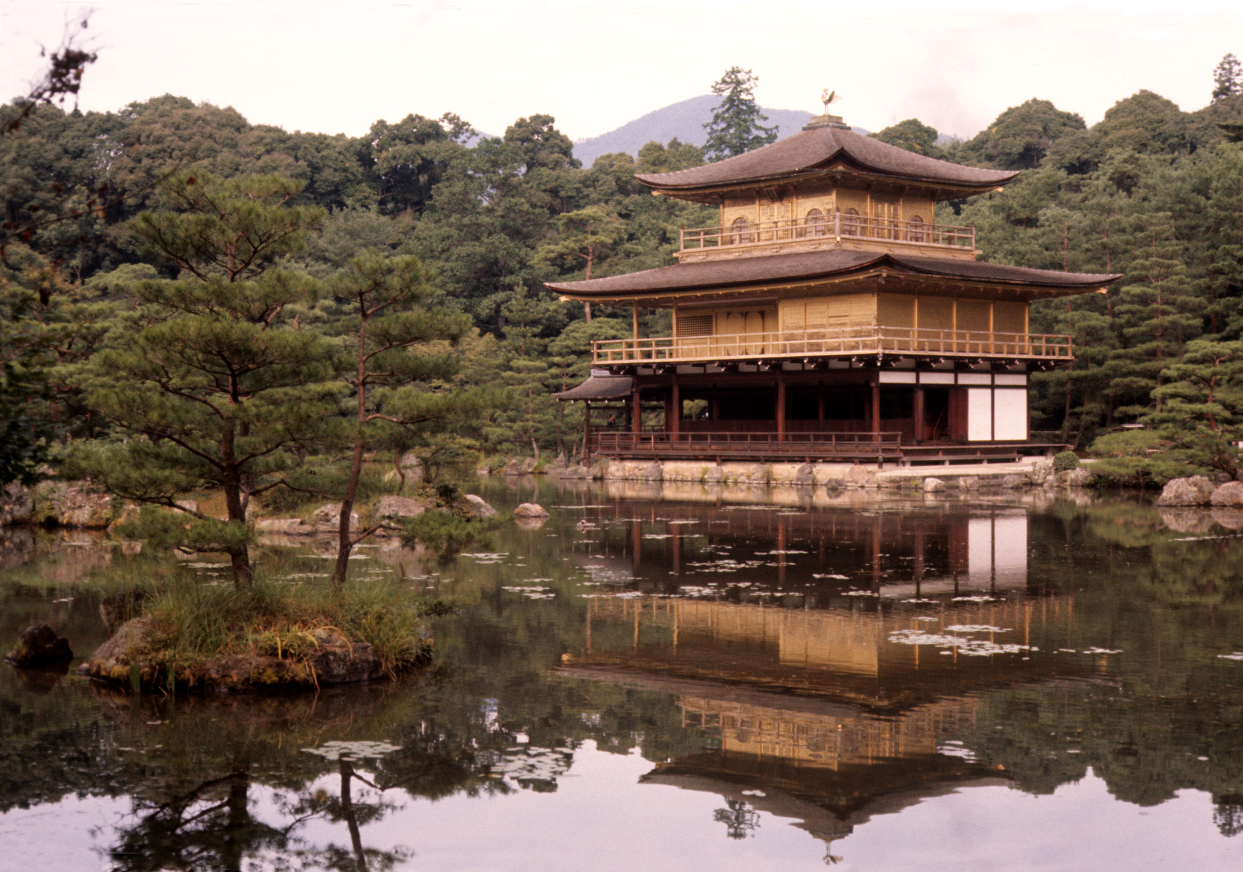
[{"label": "long golden railing around the pavilion's middle-storey balcony", "polygon": [[855,355],[933,355],[1070,361],[1071,337],[921,327],[850,327],[723,336],[661,336],[592,343],[592,362],[704,363]]}]

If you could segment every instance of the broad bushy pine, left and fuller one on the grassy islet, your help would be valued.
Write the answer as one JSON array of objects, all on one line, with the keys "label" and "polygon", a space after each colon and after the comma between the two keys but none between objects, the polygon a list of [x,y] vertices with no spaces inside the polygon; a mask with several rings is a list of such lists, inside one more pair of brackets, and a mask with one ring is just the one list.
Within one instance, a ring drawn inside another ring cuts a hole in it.
[{"label": "broad bushy pine, left and fuller one on the grassy islet", "polygon": [[[131,287],[142,328],[114,331],[80,382],[132,434],[83,452],[86,471],[119,496],[193,515],[185,527],[165,525],[164,539],[226,551],[239,587],[251,580],[250,498],[281,484],[273,476],[293,465],[291,449],[332,419],[337,389],[327,343],[295,316],[314,281],[280,265],[322,216],[288,204],[298,188],[276,177],[169,179],[167,209],[129,229],[178,277]],[[209,488],[224,493],[226,521],[177,501]]]}]

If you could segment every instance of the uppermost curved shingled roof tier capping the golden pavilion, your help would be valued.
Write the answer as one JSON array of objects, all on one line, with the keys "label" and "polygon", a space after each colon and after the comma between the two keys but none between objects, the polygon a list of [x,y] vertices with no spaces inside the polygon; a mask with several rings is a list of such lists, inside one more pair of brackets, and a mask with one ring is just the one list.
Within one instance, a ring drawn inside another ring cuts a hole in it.
[{"label": "uppermost curved shingled roof tier capping the golden pavilion", "polygon": [[726,190],[789,184],[824,175],[854,175],[929,190],[953,199],[993,190],[1018,173],[963,167],[924,157],[845,127],[823,126],[716,163],[675,173],[635,175],[658,193],[715,203]]}]

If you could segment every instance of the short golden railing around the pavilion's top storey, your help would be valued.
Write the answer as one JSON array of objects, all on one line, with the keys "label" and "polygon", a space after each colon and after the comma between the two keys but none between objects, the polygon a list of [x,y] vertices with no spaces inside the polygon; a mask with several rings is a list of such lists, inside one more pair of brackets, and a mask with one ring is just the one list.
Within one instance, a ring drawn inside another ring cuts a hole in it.
[{"label": "short golden railing around the pavilion's top storey", "polygon": [[976,228],[960,228],[927,221],[900,221],[894,218],[868,218],[846,213],[830,213],[812,218],[788,218],[777,221],[735,221],[730,226],[682,228],[681,250],[722,246],[773,245],[808,243],[817,239],[883,239],[912,245],[940,248],[976,248]]}]

